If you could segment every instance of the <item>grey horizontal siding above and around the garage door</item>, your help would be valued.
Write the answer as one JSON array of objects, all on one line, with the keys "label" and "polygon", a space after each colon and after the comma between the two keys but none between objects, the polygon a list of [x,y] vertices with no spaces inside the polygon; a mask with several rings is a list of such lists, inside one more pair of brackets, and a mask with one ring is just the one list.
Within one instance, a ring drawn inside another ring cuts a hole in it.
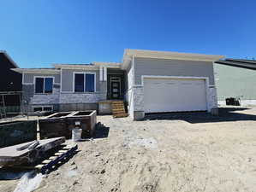
[{"label": "grey horizontal siding above and around the garage door", "polygon": [[135,84],[141,84],[142,75],[208,77],[209,84],[214,84],[213,66],[211,61],[135,58]]}]

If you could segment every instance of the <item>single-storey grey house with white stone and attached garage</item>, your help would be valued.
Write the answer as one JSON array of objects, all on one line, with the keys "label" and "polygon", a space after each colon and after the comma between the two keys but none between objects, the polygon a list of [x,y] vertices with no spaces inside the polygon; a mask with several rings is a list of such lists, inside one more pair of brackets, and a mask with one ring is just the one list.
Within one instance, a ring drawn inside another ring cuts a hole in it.
[{"label": "single-storey grey house with white stone and attached garage", "polygon": [[14,69],[23,74],[29,110],[98,109],[104,100],[125,100],[133,119],[145,113],[217,108],[213,62],[221,55],[126,49],[121,63],[55,64]]}]

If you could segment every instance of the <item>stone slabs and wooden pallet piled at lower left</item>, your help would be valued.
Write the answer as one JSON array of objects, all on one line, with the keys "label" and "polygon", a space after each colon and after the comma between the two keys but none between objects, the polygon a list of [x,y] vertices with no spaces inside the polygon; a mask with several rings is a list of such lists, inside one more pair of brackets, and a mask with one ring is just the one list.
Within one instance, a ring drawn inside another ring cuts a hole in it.
[{"label": "stone slabs and wooden pallet piled at lower left", "polygon": [[0,166],[11,169],[35,169],[43,174],[72,157],[77,144],[65,145],[65,137],[57,137],[0,148]]}]

